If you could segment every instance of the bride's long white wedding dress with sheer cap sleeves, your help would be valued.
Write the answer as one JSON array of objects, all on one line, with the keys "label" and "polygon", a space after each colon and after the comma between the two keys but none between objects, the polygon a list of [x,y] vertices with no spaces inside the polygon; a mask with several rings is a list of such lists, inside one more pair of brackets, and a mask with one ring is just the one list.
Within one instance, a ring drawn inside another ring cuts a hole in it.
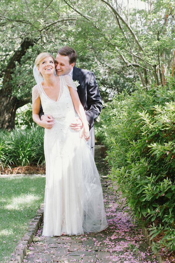
[{"label": "bride's long white wedding dress with sheer cap sleeves", "polygon": [[80,235],[100,232],[108,224],[103,194],[91,148],[81,132],[71,129],[75,109],[68,86],[77,90],[73,80],[60,76],[57,101],[50,99],[41,82],[32,90],[32,102],[40,95],[44,114],[55,120],[45,129],[46,189],[43,236]]}]

